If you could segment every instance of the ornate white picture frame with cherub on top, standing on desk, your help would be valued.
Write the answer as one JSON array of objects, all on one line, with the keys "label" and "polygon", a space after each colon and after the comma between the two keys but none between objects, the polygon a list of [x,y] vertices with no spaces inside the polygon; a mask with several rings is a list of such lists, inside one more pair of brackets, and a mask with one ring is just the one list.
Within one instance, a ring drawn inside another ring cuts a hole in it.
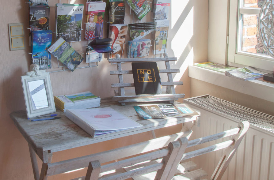
[{"label": "ornate white picture frame with cherub on top, standing on desk", "polygon": [[21,76],[27,117],[56,112],[49,73],[36,64],[30,69],[33,71]]}]

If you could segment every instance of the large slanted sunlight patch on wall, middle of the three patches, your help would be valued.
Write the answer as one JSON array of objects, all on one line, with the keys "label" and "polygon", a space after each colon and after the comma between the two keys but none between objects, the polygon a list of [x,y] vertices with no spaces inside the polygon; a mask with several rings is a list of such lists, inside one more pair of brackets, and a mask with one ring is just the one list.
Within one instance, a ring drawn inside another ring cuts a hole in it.
[{"label": "large slanted sunlight patch on wall, middle of the three patches", "polygon": [[[173,16],[171,19],[173,19]],[[180,58],[182,52],[187,47],[191,37],[193,36],[193,29],[194,29],[194,10],[192,7],[192,9],[189,11],[187,17],[185,17],[184,22],[182,22],[177,32],[175,29],[173,31],[173,32],[176,32],[175,36],[171,40],[171,48],[174,52],[174,57]]]}]

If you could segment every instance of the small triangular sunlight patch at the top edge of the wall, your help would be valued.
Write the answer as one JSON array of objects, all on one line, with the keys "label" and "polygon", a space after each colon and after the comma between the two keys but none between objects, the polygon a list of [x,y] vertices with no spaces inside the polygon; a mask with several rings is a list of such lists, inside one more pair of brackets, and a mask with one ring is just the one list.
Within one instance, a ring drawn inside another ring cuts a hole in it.
[{"label": "small triangular sunlight patch at the top edge of the wall", "polygon": [[185,9],[185,6],[188,4],[188,1],[178,1],[178,0],[172,0],[171,1],[171,28],[174,27],[176,22],[178,21],[179,17],[181,16],[181,13]]}]

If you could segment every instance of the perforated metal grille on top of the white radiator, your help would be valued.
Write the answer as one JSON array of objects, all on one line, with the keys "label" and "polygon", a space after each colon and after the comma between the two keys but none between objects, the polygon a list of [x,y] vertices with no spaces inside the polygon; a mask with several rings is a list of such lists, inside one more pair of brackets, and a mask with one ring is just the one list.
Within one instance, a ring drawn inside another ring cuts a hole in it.
[{"label": "perforated metal grille on top of the white radiator", "polygon": [[240,106],[229,101],[210,95],[184,99],[185,103],[193,104],[203,109],[225,114],[241,121],[249,121],[250,124],[274,133],[274,116]]}]

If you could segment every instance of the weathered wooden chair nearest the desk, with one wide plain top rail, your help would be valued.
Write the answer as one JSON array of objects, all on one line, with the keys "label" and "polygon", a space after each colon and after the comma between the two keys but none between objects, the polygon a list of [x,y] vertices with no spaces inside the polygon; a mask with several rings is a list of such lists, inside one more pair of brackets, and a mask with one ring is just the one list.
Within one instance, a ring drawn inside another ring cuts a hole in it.
[{"label": "weathered wooden chair nearest the desk, with one wide plain top rail", "polygon": [[[169,144],[169,142],[176,141],[178,138],[182,138],[182,137],[189,138],[191,134],[192,134],[192,130],[188,130],[185,132],[172,134],[172,135],[164,136],[164,137],[159,137],[159,138],[155,138],[155,139],[152,139],[149,141],[144,141],[141,143],[128,145],[125,147],[116,148],[116,149],[112,149],[112,150],[105,151],[105,152],[99,152],[99,153],[95,153],[95,154],[91,154],[91,155],[87,155],[87,156],[81,156],[81,157],[68,159],[68,160],[64,160],[64,161],[49,163],[45,167],[46,168],[45,174],[42,174],[42,175],[44,176],[44,179],[47,179],[47,177],[52,176],[52,175],[61,174],[64,172],[88,167],[89,162],[91,162],[91,161],[99,160],[100,163],[109,163],[109,162],[113,162],[117,159],[122,159],[122,158],[130,157],[130,156],[136,156],[136,154],[142,154],[142,153],[147,153],[150,151],[155,151],[157,149],[166,147]],[[188,138],[186,138],[186,139],[188,139]],[[172,146],[175,146],[175,148],[176,148],[176,151],[173,152],[172,154],[176,154],[178,148],[181,148],[181,145],[178,145],[178,142],[170,145],[170,147],[172,147]],[[145,160],[151,160],[151,159],[156,159],[158,157],[166,156],[169,153],[169,151],[167,149],[163,149],[162,151],[160,151],[160,153],[161,154],[158,155],[157,152],[151,152],[151,154],[146,155]],[[183,152],[182,152],[182,154],[183,154]],[[179,162],[180,162],[180,158],[178,159],[178,163]],[[107,171],[109,169],[109,168],[107,168],[108,166],[109,165],[102,167],[101,171],[104,171],[104,170]],[[120,167],[120,164],[119,164],[119,167]],[[154,169],[153,171],[156,171],[156,169]],[[93,172],[93,174],[94,174],[94,172]],[[75,179],[81,180],[81,179],[85,179],[85,177],[80,177],[80,178],[75,178]]]}]

